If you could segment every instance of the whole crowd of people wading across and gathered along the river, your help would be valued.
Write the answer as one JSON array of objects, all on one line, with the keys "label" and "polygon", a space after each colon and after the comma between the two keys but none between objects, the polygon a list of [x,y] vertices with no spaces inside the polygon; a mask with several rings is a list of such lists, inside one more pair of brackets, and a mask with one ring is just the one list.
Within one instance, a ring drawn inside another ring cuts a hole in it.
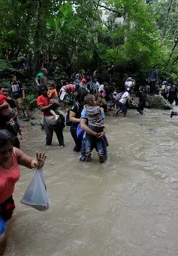
[{"label": "whole crowd of people wading across and gathered along the river", "polygon": [[[127,115],[128,101],[133,104],[137,112],[143,115],[148,94],[161,94],[170,103],[177,100],[177,89],[164,81],[162,85],[141,85],[135,90],[135,81],[131,77],[125,78],[122,89],[112,82],[113,64],[108,67],[108,81],[100,84],[97,72],[78,72],[73,81],[56,88],[56,83],[47,81],[47,69],[42,69],[35,78],[37,85],[37,105],[43,115],[46,145],[50,146],[53,132],[59,142],[59,147],[65,147],[63,129],[70,126],[71,137],[74,140],[74,151],[80,152],[80,161],[92,161],[92,150],[98,153],[98,160],[102,164],[107,161],[107,147],[109,145],[105,134],[104,119],[113,109],[115,114]],[[26,168],[42,168],[46,160],[45,153],[37,153],[31,158],[20,150],[18,134],[22,134],[18,109],[24,118],[28,119],[23,106],[25,91],[14,76],[11,81],[11,97],[9,88],[0,85],[0,256],[4,254],[7,245],[6,228],[11,219],[15,205],[12,194],[17,180],[20,178],[19,165]],[[135,103],[132,94],[139,97]],[[17,103],[17,104],[16,104]],[[64,112],[61,111],[63,109]],[[178,115],[178,113],[171,113]]]}]

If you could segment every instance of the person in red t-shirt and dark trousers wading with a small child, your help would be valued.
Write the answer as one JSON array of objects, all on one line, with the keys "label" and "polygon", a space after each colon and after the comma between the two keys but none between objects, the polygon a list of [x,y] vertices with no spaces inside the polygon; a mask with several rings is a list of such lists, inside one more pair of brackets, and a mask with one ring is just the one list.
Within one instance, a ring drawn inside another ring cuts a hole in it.
[{"label": "person in red t-shirt and dark trousers wading with a small child", "polygon": [[59,103],[56,101],[53,103],[50,103],[50,98],[47,95],[47,86],[46,85],[41,85],[40,87],[41,90],[41,96],[38,97],[37,99],[37,104],[38,108],[41,109],[43,116],[44,116],[44,131],[46,133],[46,145],[51,145],[52,139],[53,139],[53,131],[56,132],[56,136],[59,141],[59,146],[64,147],[64,137],[63,137],[63,128],[60,127],[60,124],[57,125],[55,128],[52,128],[48,122],[47,122],[47,117],[52,116],[50,113],[50,109],[53,109],[55,106],[59,106]]}]

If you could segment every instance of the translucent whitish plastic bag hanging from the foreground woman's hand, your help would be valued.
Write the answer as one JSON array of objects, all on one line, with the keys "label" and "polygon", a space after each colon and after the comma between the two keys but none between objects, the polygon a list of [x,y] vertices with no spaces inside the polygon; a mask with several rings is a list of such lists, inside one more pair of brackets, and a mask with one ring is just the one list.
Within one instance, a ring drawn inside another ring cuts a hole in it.
[{"label": "translucent whitish plastic bag hanging from the foreground woman's hand", "polygon": [[46,211],[50,208],[50,199],[47,194],[44,173],[42,170],[36,170],[34,174],[32,174],[30,184],[20,202],[24,205],[29,205],[38,211]]}]

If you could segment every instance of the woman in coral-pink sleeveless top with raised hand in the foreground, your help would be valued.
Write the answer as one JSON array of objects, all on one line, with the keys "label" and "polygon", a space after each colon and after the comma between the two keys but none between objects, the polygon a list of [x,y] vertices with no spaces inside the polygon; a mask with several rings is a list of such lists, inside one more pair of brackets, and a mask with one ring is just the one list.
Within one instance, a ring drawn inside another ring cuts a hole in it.
[{"label": "woman in coral-pink sleeveless top with raised hand in the foreground", "polygon": [[41,169],[47,158],[45,153],[36,153],[36,159],[33,159],[13,147],[13,144],[11,134],[7,130],[0,130],[0,256],[7,246],[5,231],[15,208],[12,194],[20,178],[19,165]]}]

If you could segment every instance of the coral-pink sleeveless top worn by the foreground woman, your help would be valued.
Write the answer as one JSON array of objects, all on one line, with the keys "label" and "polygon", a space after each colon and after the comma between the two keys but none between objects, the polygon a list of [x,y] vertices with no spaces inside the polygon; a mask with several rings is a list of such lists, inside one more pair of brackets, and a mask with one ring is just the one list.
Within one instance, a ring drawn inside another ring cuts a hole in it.
[{"label": "coral-pink sleeveless top worn by the foreground woman", "polygon": [[9,170],[0,166],[0,204],[14,193],[14,187],[20,178],[20,168],[15,151],[12,153],[13,165]]}]

